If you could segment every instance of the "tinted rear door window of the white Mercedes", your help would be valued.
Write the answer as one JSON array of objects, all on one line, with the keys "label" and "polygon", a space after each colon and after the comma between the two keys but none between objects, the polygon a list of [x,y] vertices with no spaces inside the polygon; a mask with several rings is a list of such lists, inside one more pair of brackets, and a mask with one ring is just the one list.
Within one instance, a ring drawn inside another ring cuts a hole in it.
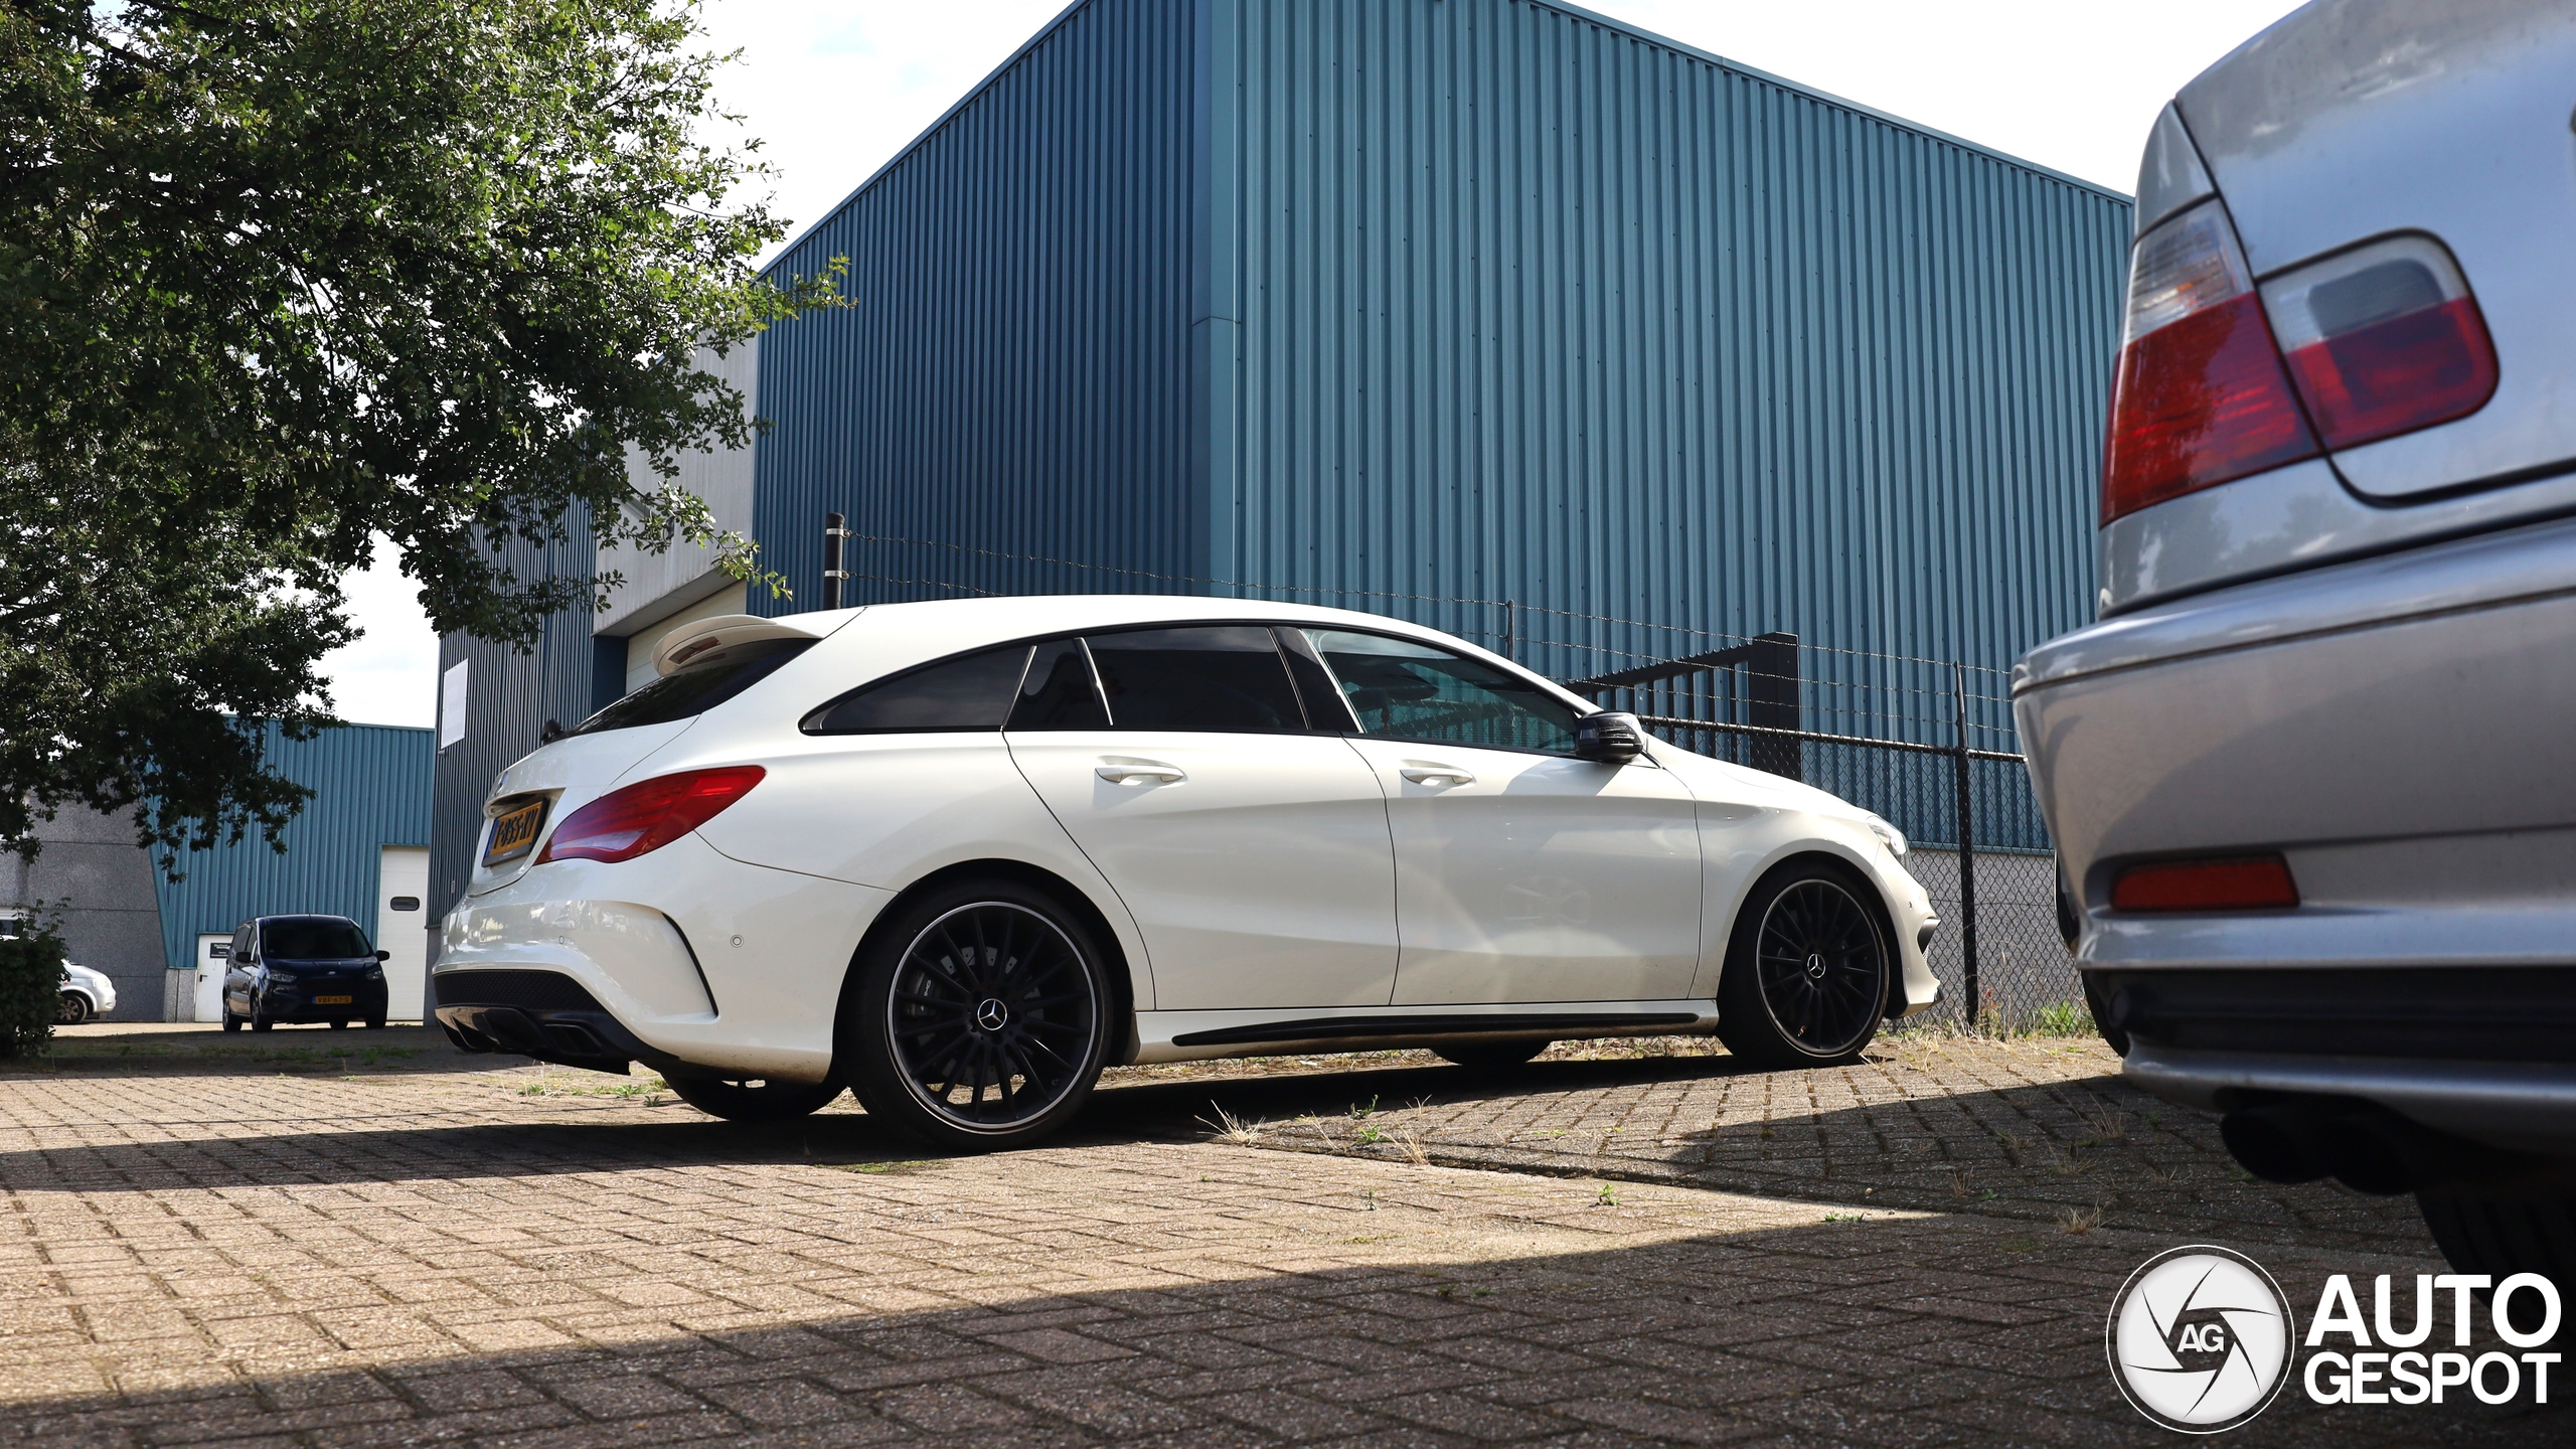
[{"label": "tinted rear door window of the white Mercedes", "polygon": [[1288,665],[1260,624],[1092,634],[1118,730],[1303,730]]}]

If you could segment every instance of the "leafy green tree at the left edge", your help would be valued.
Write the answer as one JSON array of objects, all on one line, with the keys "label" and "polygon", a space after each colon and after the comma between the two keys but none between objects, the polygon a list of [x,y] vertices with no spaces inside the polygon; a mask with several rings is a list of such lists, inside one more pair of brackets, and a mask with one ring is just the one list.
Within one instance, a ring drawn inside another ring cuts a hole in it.
[{"label": "leafy green tree at the left edge", "polygon": [[330,722],[376,539],[523,647],[618,578],[510,541],[760,572],[675,482],[747,433],[690,358],[832,276],[755,273],[786,227],[698,41],[685,0],[0,0],[0,846],[67,802],[273,841],[258,719]]}]

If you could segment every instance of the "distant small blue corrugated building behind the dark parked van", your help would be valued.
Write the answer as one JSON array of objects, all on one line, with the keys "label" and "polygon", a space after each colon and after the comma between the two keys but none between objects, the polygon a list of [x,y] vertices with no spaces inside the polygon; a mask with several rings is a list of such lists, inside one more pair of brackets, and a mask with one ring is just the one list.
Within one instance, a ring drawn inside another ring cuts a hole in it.
[{"label": "distant small blue corrugated building behind the dark parked van", "polygon": [[188,851],[180,882],[155,869],[167,967],[193,967],[198,933],[232,931],[252,915],[314,910],[374,931],[379,848],[430,843],[435,748],[430,730],[345,724],[286,740],[270,724],[268,768],[312,786],[312,804],[286,825],[283,856],[252,830],[234,846]]}]

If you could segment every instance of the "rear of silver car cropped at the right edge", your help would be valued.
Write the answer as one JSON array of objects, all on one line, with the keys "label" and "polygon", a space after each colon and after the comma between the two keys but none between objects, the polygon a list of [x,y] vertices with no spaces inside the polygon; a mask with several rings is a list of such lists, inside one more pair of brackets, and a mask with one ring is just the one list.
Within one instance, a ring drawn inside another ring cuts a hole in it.
[{"label": "rear of silver car cropped at the right edge", "polygon": [[2576,1281],[2576,5],[2321,0],[2138,175],[2102,621],[2014,699],[2125,1073]]}]

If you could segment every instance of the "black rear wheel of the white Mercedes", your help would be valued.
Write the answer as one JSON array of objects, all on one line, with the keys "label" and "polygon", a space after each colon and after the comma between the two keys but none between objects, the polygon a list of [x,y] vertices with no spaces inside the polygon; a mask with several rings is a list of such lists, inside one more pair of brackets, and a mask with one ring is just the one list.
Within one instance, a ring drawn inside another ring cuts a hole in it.
[{"label": "black rear wheel of the white Mercedes", "polygon": [[840,1047],[868,1116],[935,1147],[1025,1147],[1061,1129],[1110,1044],[1108,954],[1054,895],[956,882],[871,933]]}]

